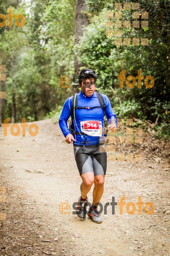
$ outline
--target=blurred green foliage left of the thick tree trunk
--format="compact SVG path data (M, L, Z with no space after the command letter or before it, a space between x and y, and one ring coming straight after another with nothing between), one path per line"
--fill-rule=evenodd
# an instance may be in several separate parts
M72 94L70 89L59 87L58 79L74 75L75 1L26 1L17 8L14 1L10 3L12 13L22 13L26 23L18 28L12 19L10 29L5 26L2 33L0 28L0 64L6 65L8 71L4 119L11 118L14 91L16 122L21 122L22 117L40 120ZM6 13L7 7L1 5L2 12Z

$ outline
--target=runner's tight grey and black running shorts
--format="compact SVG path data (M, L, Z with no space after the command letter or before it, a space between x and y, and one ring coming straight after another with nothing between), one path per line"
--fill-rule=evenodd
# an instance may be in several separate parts
M78 171L81 174L93 172L96 175L106 175L107 153L106 144L74 145L74 156Z

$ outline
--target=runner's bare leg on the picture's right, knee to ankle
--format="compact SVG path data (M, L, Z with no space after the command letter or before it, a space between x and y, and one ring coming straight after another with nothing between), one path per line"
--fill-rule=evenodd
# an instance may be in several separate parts
M105 175L94 176L93 205L98 206L104 191Z

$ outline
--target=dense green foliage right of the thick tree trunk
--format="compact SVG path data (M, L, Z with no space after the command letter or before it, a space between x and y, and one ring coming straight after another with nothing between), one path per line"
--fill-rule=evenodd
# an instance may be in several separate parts
M100 1L98 7L95 7L96 1L90 1L89 6L94 7L100 13L94 14L84 31L79 45L77 45L79 61L82 67L88 67L96 70L97 75L102 78L111 76L111 70L115 70L115 75L119 75L121 70L126 70L126 77L129 75L137 77L138 70L142 70L144 78L151 75L155 79L155 84L151 89L144 85L138 89L137 84L133 89L126 87L119 88L119 80L115 79L115 88L110 89L111 79L108 80L107 88L97 88L98 91L107 94L111 100L113 110L118 118L130 118L132 116L141 120L149 119L153 123L159 116L159 123L169 122L165 110L168 109L170 87L169 87L169 36L167 11L169 3L166 1L140 1L144 6L142 11L149 11L149 28L143 30L134 28L122 28L123 37L143 37L149 38L148 46L115 46L113 37L106 37L105 15L107 10L113 10L113 5L107 6L105 2L103 10ZM104 2L104 1L103 1ZM116 1L118 2L118 1ZM122 3L127 2L123 1ZM155 6L156 5L156 6ZM109 7L109 8L108 8ZM157 13L155 12L157 10ZM159 20L159 15L161 19ZM122 20L130 20L130 11L122 12ZM165 16L165 20L162 17ZM154 22L153 22L153 20ZM160 24L161 23L161 24ZM155 25L156 24L156 25ZM159 30L159 32L158 32ZM158 35L156 36L156 33ZM162 126L164 132L166 125Z

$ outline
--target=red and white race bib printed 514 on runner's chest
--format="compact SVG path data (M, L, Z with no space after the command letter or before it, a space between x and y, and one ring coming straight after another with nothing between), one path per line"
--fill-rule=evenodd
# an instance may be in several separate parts
M102 136L101 121L82 121L80 122L81 132L89 136Z

